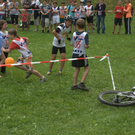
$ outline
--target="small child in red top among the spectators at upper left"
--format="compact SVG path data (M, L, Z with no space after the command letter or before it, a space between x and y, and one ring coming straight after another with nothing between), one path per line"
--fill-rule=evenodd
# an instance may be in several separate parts
M24 28L26 28L26 30L27 30L28 14L25 9L23 9L21 16L22 16L22 31L24 30Z

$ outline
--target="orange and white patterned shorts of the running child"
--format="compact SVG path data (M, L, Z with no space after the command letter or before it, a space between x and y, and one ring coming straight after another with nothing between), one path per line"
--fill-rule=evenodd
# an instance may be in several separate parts
M29 57L26 57L26 58L24 58L24 57L20 57L17 61L16 61L16 63L29 63L29 62L32 62L32 55L30 55ZM32 70L33 69L33 65L32 64L29 64L29 65L25 65L26 66L26 68L28 69L28 70Z

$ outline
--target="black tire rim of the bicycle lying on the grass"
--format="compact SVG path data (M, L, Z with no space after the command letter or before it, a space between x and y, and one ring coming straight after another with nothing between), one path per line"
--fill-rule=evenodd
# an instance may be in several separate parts
M116 107L126 107L126 106L132 106L132 105L135 105L135 100L132 99L132 101L125 101L125 103L116 103L114 102L114 100L111 101L107 101L106 99L103 98L104 95L113 95L112 97L115 97L114 95L119 93L119 92L123 92L123 91L116 91L116 90L109 90L109 91L104 91L104 92L101 92L99 95L98 95L98 100L106 105L110 105L110 106L116 106ZM111 98L112 98L111 97ZM110 99L111 100L111 99Z

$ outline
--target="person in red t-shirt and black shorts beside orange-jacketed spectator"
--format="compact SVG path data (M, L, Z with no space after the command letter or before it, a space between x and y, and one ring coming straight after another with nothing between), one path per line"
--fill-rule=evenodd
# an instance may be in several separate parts
M122 24L122 16L123 16L123 7L121 6L122 1L118 1L118 6L115 7L115 19L114 19L114 26L113 26L113 32L114 34L115 27L117 24L119 24L118 34L120 34L121 24Z

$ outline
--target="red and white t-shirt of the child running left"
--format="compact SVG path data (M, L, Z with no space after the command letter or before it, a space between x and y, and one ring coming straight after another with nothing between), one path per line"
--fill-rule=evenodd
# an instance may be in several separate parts
M22 38L16 38L14 39L10 46L9 49L14 50L17 49L24 58L29 57L31 54L31 52L29 51L29 49L27 48L27 45L25 43L26 38L22 37Z

